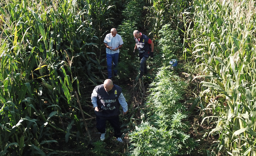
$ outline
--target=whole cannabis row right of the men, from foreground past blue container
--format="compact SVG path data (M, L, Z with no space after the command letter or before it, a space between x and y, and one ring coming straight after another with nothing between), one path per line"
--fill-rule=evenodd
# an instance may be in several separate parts
M160 31L163 38L159 40L163 50L161 66L154 81L149 85L149 96L145 106L147 119L136 127L130 136L130 155L184 155L191 154L196 143L186 134L189 127L185 122L187 112L180 101L183 99L187 84L170 69L169 60L180 50L177 31L168 25Z

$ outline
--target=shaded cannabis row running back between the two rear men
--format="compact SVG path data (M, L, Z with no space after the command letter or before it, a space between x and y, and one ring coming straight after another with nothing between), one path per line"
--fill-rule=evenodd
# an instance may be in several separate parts
M118 34L121 35L125 44L120 50L120 59L117 66L120 79L127 79L131 73L130 71L138 71L139 60L136 57L132 57L135 47L133 31L142 27L144 19L141 17L141 12L143 11L141 6L144 4L143 1L130 0L127 1L122 11L123 21L118 26Z

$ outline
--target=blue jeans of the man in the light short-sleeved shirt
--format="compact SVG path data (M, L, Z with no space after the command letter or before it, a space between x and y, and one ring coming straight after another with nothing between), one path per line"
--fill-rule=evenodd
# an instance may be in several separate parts
M114 64L114 75L117 74L117 63L118 63L118 55L119 53L115 54L107 54L107 77L110 79L112 78L112 60Z

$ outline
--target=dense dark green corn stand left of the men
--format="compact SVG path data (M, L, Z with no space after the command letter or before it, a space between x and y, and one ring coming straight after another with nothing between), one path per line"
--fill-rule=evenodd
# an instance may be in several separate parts
M86 19L82 6L76 0L0 2L0 155L45 155L56 133L65 142L83 133L73 95L78 76L99 80L97 35L105 30ZM100 20L110 8L97 8L106 11Z

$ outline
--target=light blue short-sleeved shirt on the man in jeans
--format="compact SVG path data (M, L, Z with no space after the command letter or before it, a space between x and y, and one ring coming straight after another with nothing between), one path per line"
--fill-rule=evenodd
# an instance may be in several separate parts
M105 39L104 39L104 43L106 43L108 46L112 47L112 49L117 48L119 45L123 44L123 40L122 37L118 34L116 34L115 37L112 36L111 33L107 34ZM109 48L106 47L106 53L107 54L115 54L115 53L119 53L119 49L116 51L112 51Z

